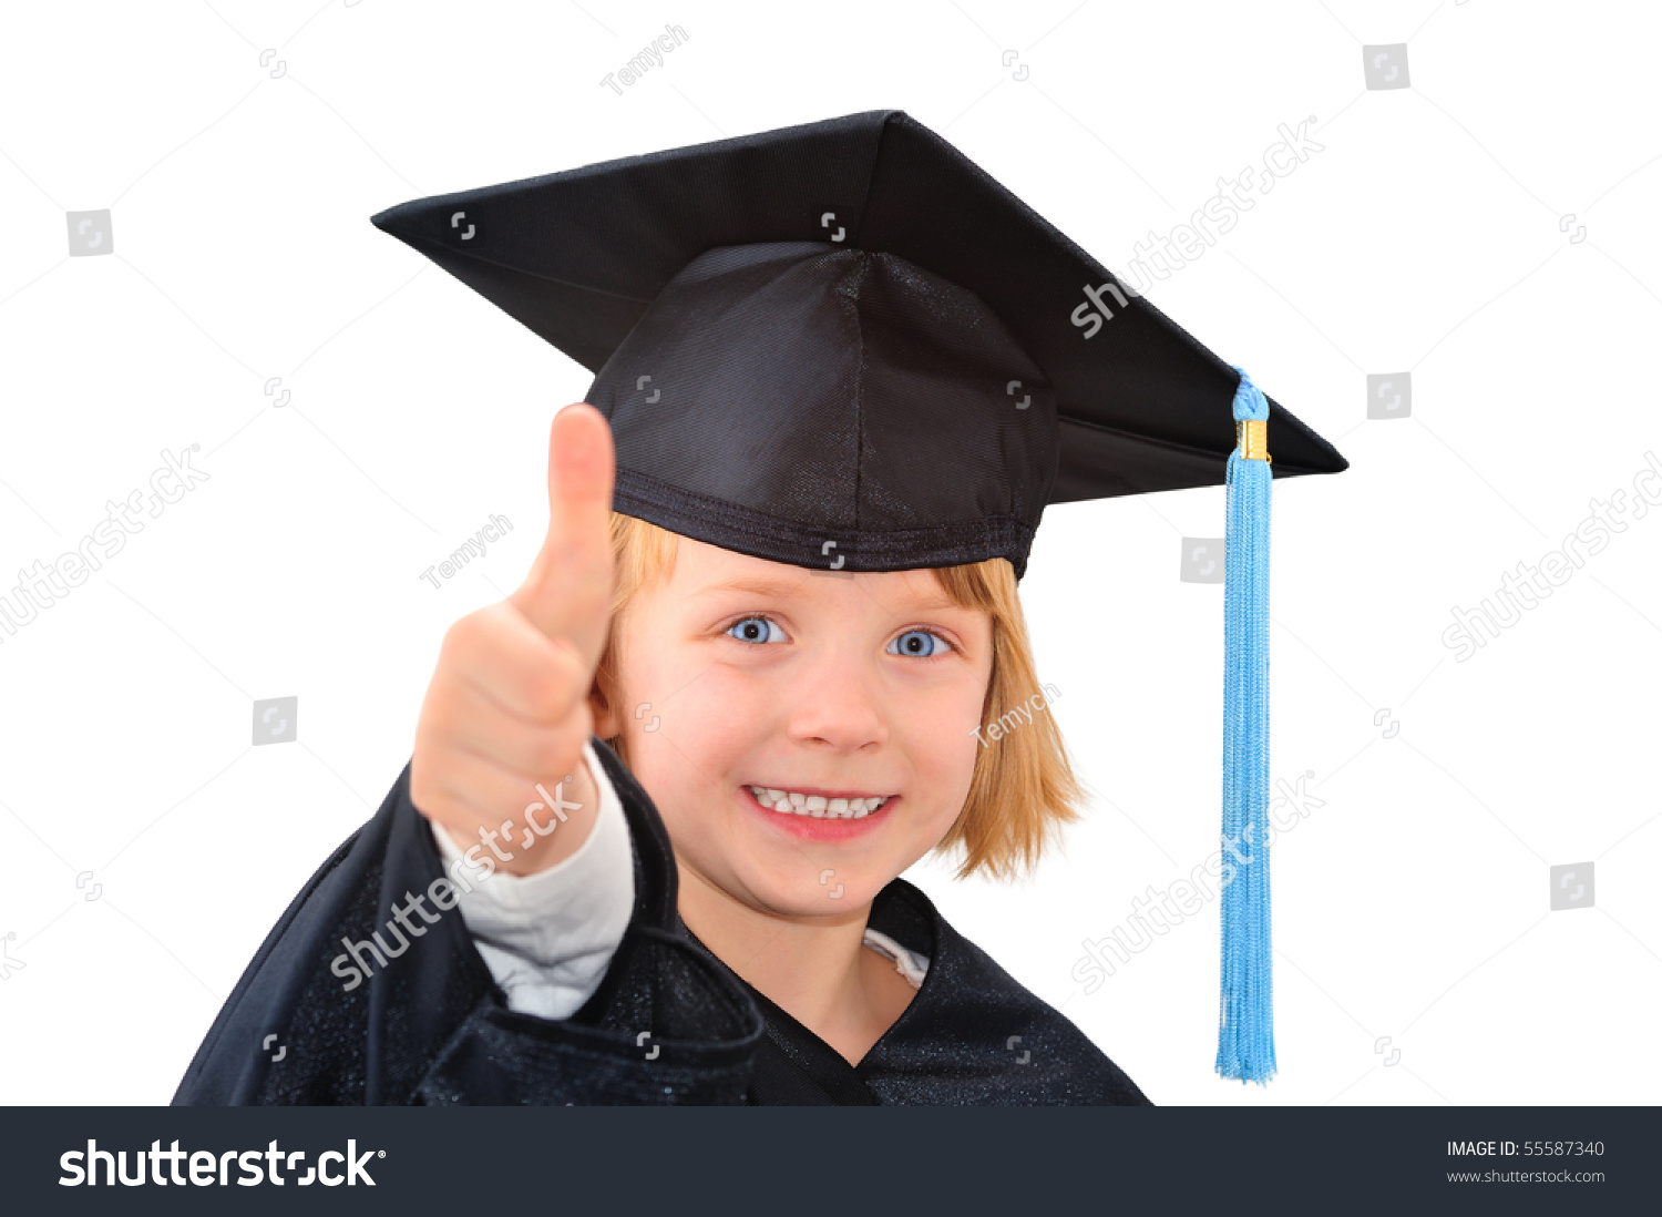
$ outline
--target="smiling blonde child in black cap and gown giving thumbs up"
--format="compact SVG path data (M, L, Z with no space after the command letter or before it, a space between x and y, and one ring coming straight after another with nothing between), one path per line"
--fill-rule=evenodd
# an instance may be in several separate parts
M175 1102L1147 1102L897 876L1075 818L1012 713L1034 529L1222 480L1240 377L896 111L376 223L592 406L529 579L447 633L411 766ZM1087 326L1080 283L1125 308ZM1278 474L1345 467L1258 401Z

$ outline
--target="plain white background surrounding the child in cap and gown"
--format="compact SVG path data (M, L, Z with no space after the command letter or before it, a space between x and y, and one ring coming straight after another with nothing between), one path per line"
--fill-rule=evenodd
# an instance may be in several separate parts
M1092 813L1034 881L914 878L1157 1102L1654 1101L1662 512L1468 662L1441 642L1662 451L1654 10L111 0L0 22L0 592L148 492L163 449L199 444L211 475L0 635L5 1102L171 1097L406 763L444 628L535 552L547 422L588 372L367 218L871 108L1117 271L1315 115L1323 151L1150 299L1353 462L1276 485L1271 768L1311 771L1323 806L1275 855L1268 1087L1212 1072L1215 904L1097 993L1072 978L1084 939L1217 848L1222 587L1178 560L1222 535L1222 489L1045 515L1022 592ZM598 83L665 23L686 43L660 68ZM1403 42L1411 88L1368 91L1361 47ZM63 213L101 208L115 254L68 258ZM1411 417L1366 421L1366 374L1403 371ZM419 577L490 514L517 529L489 557ZM299 742L251 746L251 702L284 695ZM1547 868L1586 861L1596 906L1551 913Z

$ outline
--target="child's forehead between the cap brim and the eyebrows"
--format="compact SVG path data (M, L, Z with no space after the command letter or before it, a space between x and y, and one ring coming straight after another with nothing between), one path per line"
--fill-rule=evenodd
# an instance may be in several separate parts
M778 600L849 597L886 608L957 607L929 569L833 574L736 554L691 537L678 539L666 590L700 600L750 594Z

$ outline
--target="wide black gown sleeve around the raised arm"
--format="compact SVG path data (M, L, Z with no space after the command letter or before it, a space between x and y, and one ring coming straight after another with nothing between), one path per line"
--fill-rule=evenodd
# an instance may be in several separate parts
M444 875L406 766L266 936L173 1102L741 1102L761 1019L731 973L675 931L675 863L658 813L605 743L595 753L628 818L637 894L583 1009L560 1021L507 1009L454 908L344 991L331 971L342 938L387 938L392 903ZM268 1034L278 1036L269 1047Z

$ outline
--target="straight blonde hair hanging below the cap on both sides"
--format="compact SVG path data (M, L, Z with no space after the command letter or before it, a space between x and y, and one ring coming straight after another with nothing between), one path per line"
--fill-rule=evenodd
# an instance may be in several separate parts
M617 707L618 620L637 594L668 579L675 569L678 537L656 524L612 512L612 559L617 585L612 592L612 632L600 657L597 682L607 702ZM1020 703L1032 707L1045 697L1027 643L1027 623L1015 594L1015 570L1006 559L987 559L959 567L932 567L936 580L961 608L976 608L992 618L992 675L981 708L982 728L1004 720L1009 735L992 737L996 746L976 751L969 795L952 828L936 850L961 848L957 878L976 871L1001 879L1015 878L1039 861L1047 841L1062 825L1079 818L1084 791L1062 743L1055 718L1015 715ZM1045 698L1049 700L1049 698ZM1020 730L1010 730L1020 723ZM997 728L996 728L997 730ZM628 763L622 735L607 740Z

